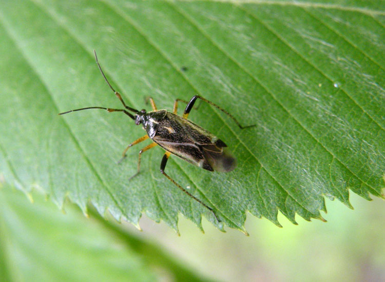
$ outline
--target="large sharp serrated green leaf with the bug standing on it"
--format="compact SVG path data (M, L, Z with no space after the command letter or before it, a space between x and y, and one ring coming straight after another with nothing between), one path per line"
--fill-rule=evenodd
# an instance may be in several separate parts
M385 12L368 1L4 1L0 3L0 171L24 191L41 187L59 206L68 196L138 226L142 212L177 230L178 213L201 214L245 232L245 212L279 225L280 210L310 220L324 196L347 206L349 189L381 196L385 176ZM159 173L162 150L143 154L144 135L119 113L92 50L126 103L152 96L171 110L199 94L189 118L238 158L210 173L177 157L167 172L214 215ZM181 111L181 110L180 110ZM127 124L125 122L127 121ZM147 145L144 144L143 147Z

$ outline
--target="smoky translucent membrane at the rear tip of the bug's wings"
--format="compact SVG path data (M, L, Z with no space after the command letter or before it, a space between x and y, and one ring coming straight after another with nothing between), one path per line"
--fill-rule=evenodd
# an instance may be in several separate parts
M202 152L210 166L219 172L229 172L237 166L236 158L225 147L216 145L202 146Z

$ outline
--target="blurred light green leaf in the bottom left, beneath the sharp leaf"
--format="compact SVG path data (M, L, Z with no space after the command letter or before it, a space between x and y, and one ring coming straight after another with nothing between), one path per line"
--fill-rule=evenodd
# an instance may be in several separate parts
M0 189L3 281L155 280L116 234L72 207L64 214L41 195L35 199L32 205L21 192Z

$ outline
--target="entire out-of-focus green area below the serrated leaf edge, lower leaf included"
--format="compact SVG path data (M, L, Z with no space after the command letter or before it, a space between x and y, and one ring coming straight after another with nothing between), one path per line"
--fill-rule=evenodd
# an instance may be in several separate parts
M245 236L205 234L180 217L178 236L143 216L139 231L67 203L66 213L33 193L0 189L2 281L383 281L385 207L352 195L355 210L328 201L323 223L284 216L278 228L248 216ZM21 238L23 237L23 238Z

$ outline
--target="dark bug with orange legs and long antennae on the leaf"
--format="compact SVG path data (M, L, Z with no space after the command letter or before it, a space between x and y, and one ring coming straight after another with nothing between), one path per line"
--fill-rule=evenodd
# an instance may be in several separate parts
M127 148L123 151L123 156L118 163L120 163L126 157L127 150L133 145L139 144L148 138L150 138L153 143L147 145L142 150L140 150L138 159L138 170L129 179L139 174L142 153L159 145L166 151L163 155L160 166L161 173L166 176L167 179L170 180L170 182L172 182L179 189L181 189L184 193L196 200L198 203L203 205L211 212L213 212L218 222L220 222L221 220L218 218L213 208L209 207L208 205L203 203L202 200L192 195L190 192L180 186L164 171L167 164L167 160L169 156L173 154L193 165L196 165L208 171L229 172L234 170L236 167L236 158L232 155L232 153L227 150L227 145L221 139L187 119L188 114L194 107L194 104L197 99L201 99L204 102L216 107L217 109L227 114L241 129L252 127L255 125L241 126L238 120L233 115L231 115L218 105L214 104L213 102L210 102L209 100L198 95L193 96L188 102L186 100L176 99L174 103L174 111L172 113L168 112L167 110L158 110L152 98L148 98L150 100L151 107L153 110L151 112L146 112L146 110L144 109L138 111L134 108L131 108L124 103L124 100L120 93L112 88L99 64L98 56L95 51L94 54L96 63L104 77L104 80L114 92L114 94L119 98L120 102L122 102L125 109L87 107L63 112L60 113L60 115L89 109L103 109L107 110L108 112L123 112L128 115L131 119L133 119L136 125L142 124L142 127L147 132L147 134L129 144ZM187 104L183 112L183 116L177 115L178 102L183 102Z

